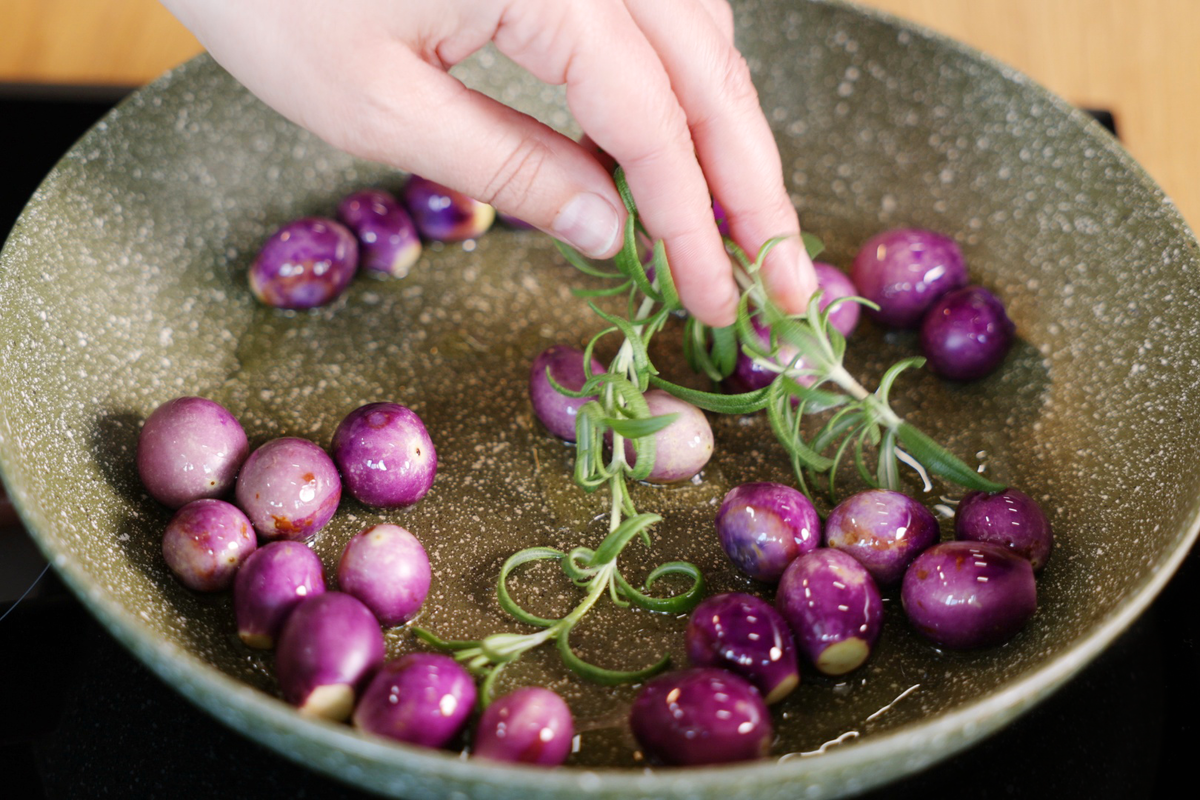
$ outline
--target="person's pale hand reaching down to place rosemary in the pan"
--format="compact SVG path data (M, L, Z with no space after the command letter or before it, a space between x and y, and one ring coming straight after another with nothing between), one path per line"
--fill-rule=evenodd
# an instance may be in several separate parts
M738 289L710 193L772 297L816 288L779 150L733 46L726 0L163 0L277 112L355 156L457 188L594 258L620 247L619 163L684 306L728 325ZM565 85L582 143L463 86L487 42Z

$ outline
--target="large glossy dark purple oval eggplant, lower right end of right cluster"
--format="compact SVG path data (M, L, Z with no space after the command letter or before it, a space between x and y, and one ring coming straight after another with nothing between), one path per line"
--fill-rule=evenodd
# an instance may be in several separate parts
M991 542L929 548L905 573L900 600L912 626L948 650L1003 644L1038 607L1033 565Z

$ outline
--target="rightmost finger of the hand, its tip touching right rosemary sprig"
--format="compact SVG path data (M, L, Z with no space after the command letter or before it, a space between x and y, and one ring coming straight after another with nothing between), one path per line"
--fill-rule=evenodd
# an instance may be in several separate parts
M799 239L779 150L749 67L714 22L719 8L706 2L710 16L702 18L688 13L691 0L626 0L626 5L662 59L733 240L754 253L768 239L787 236L768 255L763 279L786 311L804 311L816 275Z

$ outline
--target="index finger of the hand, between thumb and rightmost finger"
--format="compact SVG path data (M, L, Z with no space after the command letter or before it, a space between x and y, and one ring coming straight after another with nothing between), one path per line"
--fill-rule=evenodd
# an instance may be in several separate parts
M544 6L570 8L556 38L563 47L546 47L536 35ZM732 269L713 224L688 116L659 54L619 1L527 2L518 11L526 13L506 18L497 46L542 80L566 84L580 126L624 168L643 223L664 240L684 306L701 321L732 323ZM688 13L708 19L696 7Z

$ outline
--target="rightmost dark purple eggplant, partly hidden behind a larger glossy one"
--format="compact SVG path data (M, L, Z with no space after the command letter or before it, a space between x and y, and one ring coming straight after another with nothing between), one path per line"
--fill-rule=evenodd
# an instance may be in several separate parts
M956 539L1002 545L1039 572L1050 558L1054 531L1042 506L1014 488L995 494L967 492L954 518Z

